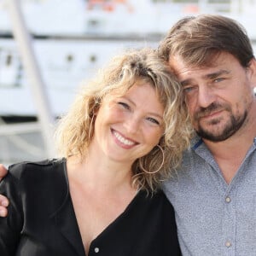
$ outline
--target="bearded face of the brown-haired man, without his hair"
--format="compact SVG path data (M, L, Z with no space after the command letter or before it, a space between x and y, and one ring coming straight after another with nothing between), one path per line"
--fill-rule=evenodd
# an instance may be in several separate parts
M220 142L247 123L254 98L255 65L241 67L229 53L221 53L212 62L212 67L189 67L177 55L169 60L183 85L195 131L209 141Z

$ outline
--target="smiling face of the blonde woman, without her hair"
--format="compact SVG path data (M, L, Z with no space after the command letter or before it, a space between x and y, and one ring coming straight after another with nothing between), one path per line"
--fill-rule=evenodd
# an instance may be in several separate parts
M99 156L132 164L159 143L163 114L152 85L135 84L124 96L103 99L90 146Z

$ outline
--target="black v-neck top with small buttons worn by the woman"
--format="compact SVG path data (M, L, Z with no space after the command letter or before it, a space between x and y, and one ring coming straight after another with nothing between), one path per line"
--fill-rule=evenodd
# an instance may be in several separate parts
M8 217L0 218L1 256L85 255L65 159L10 166L0 193L10 200ZM138 192L125 212L91 242L91 255L181 255L166 195Z

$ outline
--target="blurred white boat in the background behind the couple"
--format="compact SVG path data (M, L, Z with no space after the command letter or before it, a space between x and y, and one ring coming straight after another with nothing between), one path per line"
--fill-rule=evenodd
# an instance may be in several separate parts
M229 15L256 41L256 0L20 1L55 115L67 110L78 84L112 55L124 48L156 46L183 15ZM35 115L26 70L11 34L7 3L0 0L0 116Z

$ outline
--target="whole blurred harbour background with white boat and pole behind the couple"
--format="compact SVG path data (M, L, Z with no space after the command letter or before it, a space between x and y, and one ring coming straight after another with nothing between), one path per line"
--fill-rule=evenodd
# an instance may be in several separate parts
M0 163L54 157L56 119L81 82L202 13L240 21L255 53L256 0L0 0Z

